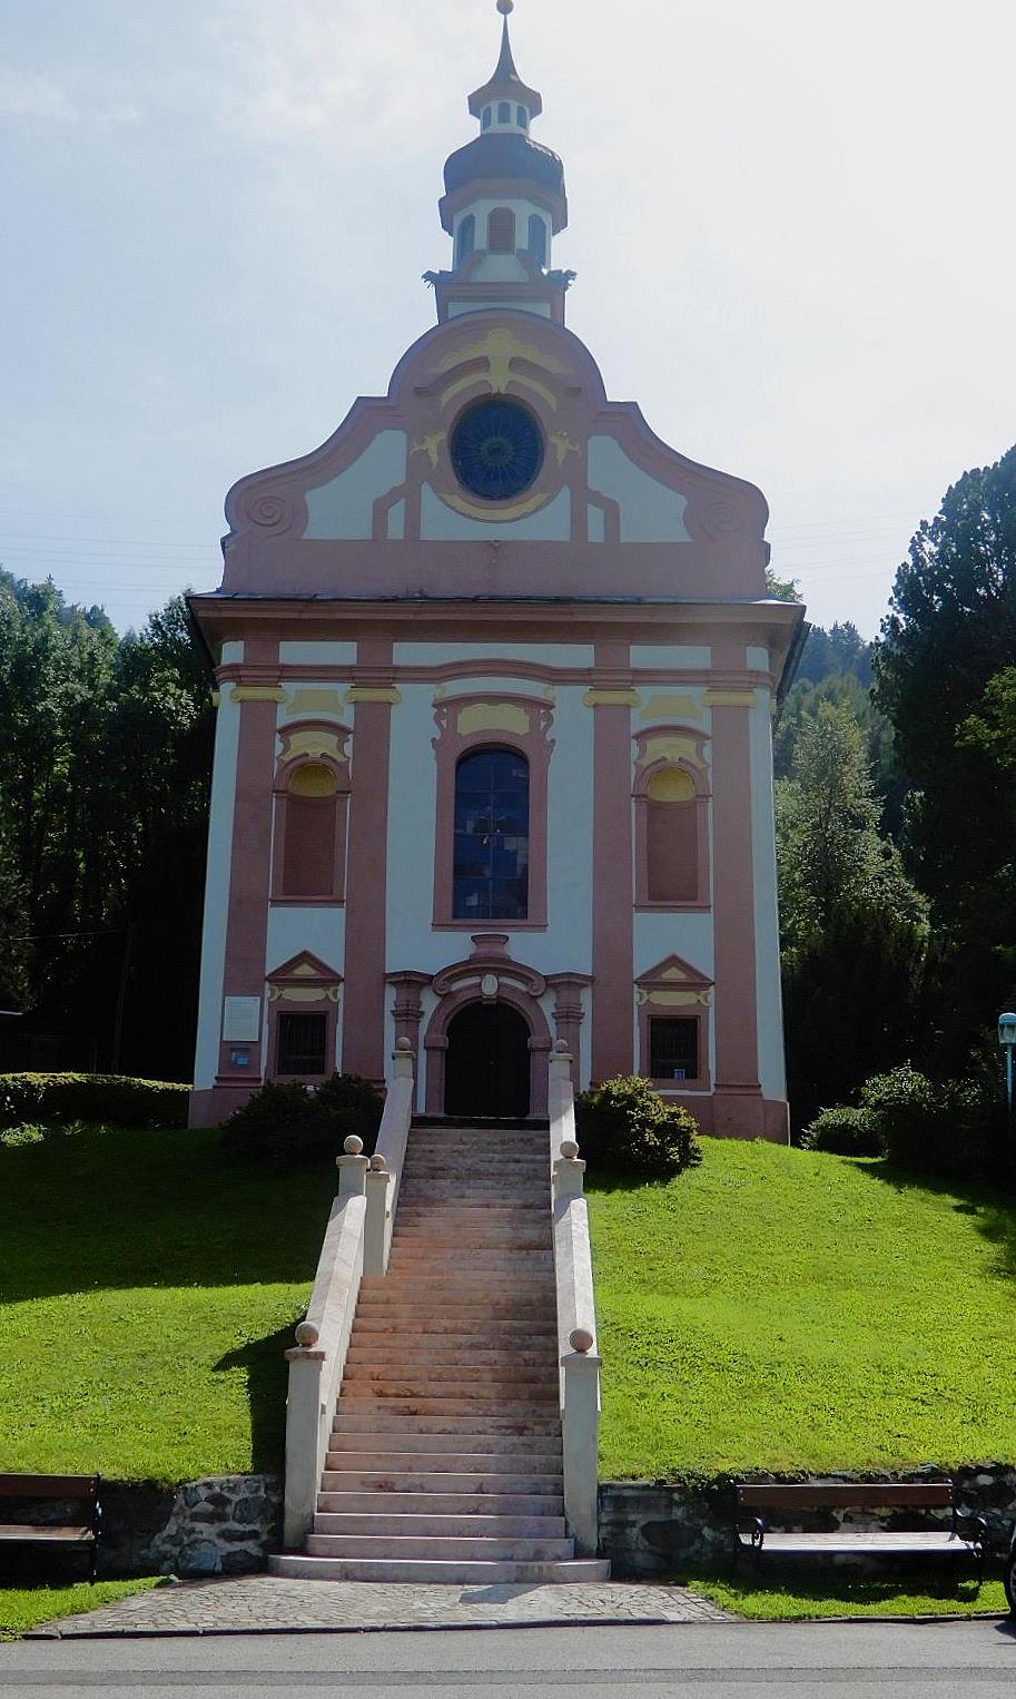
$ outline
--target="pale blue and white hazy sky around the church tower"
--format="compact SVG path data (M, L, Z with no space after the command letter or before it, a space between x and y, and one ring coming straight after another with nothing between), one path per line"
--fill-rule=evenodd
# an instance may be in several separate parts
M759 484L809 617L1016 440L1011 0L518 0L569 326ZM449 263L494 0L5 0L0 564L141 627L223 500L381 394Z

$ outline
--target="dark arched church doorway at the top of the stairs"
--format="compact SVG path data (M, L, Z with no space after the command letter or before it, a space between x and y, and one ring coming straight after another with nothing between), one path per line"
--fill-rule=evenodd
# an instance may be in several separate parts
M445 1115L528 1115L528 1026L510 1002L467 1002L449 1021Z

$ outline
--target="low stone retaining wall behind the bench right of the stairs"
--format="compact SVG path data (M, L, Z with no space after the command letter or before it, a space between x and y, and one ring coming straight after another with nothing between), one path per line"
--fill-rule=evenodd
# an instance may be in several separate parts
M921 1482L943 1480L951 1475L962 1516L982 1516L987 1522L989 1546L1002 1553L1009 1546L1016 1521L1016 1468L1009 1463L984 1463L960 1470L911 1470L906 1473L831 1475L836 1482ZM802 1480L802 1476L751 1475L746 1480ZM844 1512L821 1510L782 1527L836 1527ZM860 1519L860 1517L855 1517ZM892 1526L892 1514L865 1512L863 1521L873 1527ZM934 1526L936 1514L928 1514L924 1526ZM948 1522L948 1514L945 1516ZM907 1512L906 1522L897 1512L897 1526L921 1526ZM654 1482L601 1482L600 1483L600 1549L613 1563L615 1575L663 1577L675 1573L683 1563L727 1561L734 1526L734 1492L729 1482L703 1482L702 1485L659 1485Z

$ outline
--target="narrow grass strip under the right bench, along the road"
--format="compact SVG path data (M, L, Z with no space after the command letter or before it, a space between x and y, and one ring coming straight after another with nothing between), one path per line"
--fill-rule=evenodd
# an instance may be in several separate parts
M846 1580L797 1570L783 1580L731 1580L729 1572L681 1575L678 1580L722 1611L751 1623L804 1623L824 1616L1006 1616L1002 1583L945 1577L933 1592L917 1592L902 1580Z

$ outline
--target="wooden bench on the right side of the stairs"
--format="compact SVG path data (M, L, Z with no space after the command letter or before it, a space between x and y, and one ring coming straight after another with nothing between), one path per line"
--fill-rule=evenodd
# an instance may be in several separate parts
M960 1532L951 1482L802 1482L793 1485L737 1482L734 1561L741 1551L758 1560L797 1556L943 1556L972 1558L984 1580L984 1517L970 1517L970 1532ZM885 1527L836 1527L827 1532L770 1532L766 1512L810 1510L950 1510L950 1526L926 1531ZM742 1522L751 1516L751 1529Z

